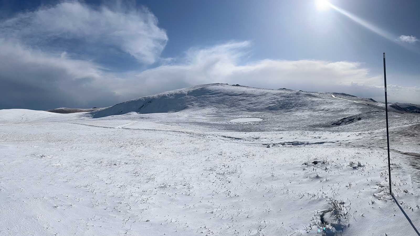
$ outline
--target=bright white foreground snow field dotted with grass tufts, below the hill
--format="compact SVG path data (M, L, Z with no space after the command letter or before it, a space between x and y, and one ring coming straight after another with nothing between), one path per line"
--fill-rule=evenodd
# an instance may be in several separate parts
M382 149L69 123L2 126L0 140L3 235L315 235L330 198L349 211L343 235L412 230L386 195ZM393 174L419 222L415 183Z

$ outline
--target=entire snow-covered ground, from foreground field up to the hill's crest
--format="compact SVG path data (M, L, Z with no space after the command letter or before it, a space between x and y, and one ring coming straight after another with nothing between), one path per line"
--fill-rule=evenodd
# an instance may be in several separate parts
M91 113L0 110L0 235L416 235L388 194L384 116L226 84ZM419 125L389 116L394 195L420 227Z

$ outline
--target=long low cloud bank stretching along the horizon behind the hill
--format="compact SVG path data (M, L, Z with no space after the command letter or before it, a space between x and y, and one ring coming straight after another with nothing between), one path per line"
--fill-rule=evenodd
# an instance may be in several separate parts
M86 60L71 59L66 52L51 54L0 39L0 108L101 107L216 82L346 92L383 100L382 75L370 75L360 63L266 59L241 64L248 53L249 42L230 42L190 49L184 57L149 70L113 73ZM419 90L388 85L388 98L419 102Z

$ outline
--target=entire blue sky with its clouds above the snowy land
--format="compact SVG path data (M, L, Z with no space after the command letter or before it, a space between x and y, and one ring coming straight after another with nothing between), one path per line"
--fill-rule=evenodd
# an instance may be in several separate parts
M103 107L205 83L420 103L420 3L0 1L2 108Z

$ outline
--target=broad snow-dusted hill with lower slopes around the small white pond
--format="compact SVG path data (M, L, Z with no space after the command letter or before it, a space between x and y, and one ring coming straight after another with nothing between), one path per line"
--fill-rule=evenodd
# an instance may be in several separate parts
M370 99L337 94L360 102ZM165 113L165 114L161 114ZM228 84L203 84L121 102L91 113L92 118L127 114L132 119L152 118L185 123L214 131L281 131L328 129L337 131L384 128L383 111L337 99L326 92L260 89ZM142 114L142 115L139 115ZM356 117L356 119L353 119ZM258 118L255 123L232 123L236 118ZM351 122L341 122L349 119ZM302 122L304 121L304 122ZM343 123L344 125L333 125ZM407 124L390 114L391 126Z

